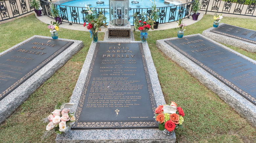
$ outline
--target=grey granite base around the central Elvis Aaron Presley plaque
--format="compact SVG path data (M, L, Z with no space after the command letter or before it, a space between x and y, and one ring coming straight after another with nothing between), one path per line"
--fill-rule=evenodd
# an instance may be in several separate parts
M109 41L100 41L109 42ZM130 41L139 42L139 41ZM147 68L149 71L150 81L155 96L157 105L165 104L161 86L158 80L158 74L154 66L149 47L146 43L142 44L144 55L146 59ZM82 90L85 84L90 63L93 59L96 43L91 43L90 49L86 56L84 65L77 80L75 89L73 91L70 103L75 103L71 108L71 112L75 112L78 106L79 99L82 94ZM70 129L66 134L57 135L56 143L71 143L71 142L83 142L83 143L129 143L129 142L155 142L155 143L174 143L176 142L175 133L172 135L164 135L158 128L147 129Z

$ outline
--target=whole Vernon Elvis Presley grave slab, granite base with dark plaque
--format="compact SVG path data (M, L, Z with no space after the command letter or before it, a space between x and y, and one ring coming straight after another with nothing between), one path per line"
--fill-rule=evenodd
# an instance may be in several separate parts
M197 38L198 42L195 41L195 39L193 39L193 38ZM172 42L175 40L177 42ZM167 41L169 43L167 43L165 41ZM191 41L193 41L193 42L191 42ZM222 100L224 100L227 104L229 104L232 108L234 108L234 110L236 110L240 115L242 115L245 119L247 119L252 125L256 126L256 105L253 103L255 101L255 98L254 98L255 92L252 92L253 97L251 97L251 101L249 101L245 97L241 96L239 91L237 92L234 90L234 88L233 89L231 88L231 86L235 86L235 85L232 85L233 83L227 84L228 80L226 79L225 74L229 74L229 75L231 75L231 74L227 73L225 71L229 71L229 70L234 71L236 69L235 67L237 66L237 64L234 64L236 62L233 62L233 58L226 58L226 57L229 57L229 55L225 55L224 52L220 51L220 50L229 51L229 52L235 54L237 57L244 59L244 60L248 61L249 63L252 63L253 65L255 65L255 63L256 63L254 60L252 60L234 50L231 50L231 49L229 49L229 48L227 48L227 47L225 47L225 46L223 46L223 45L221 45L221 44L219 44L201 34L188 35L188 36L184 36L181 39L170 38L170 39L164 39L164 40L157 40L157 47L166 56L168 56L173 61L178 63L181 67L183 67L191 75L196 77L206 87L208 87L213 92L215 92ZM214 48L212 48L212 47L214 47ZM219 47L219 48L216 49L216 47ZM197 56L193 56L196 53L197 53ZM221 55L223 55L224 57L222 57ZM204 62L207 59L209 59L210 61L208 61L208 63L205 64ZM201 60L203 60L203 62ZM221 62L221 63L218 63L218 62ZM214 64L214 63L216 63L216 64ZM218 64L223 64L223 63L224 63L224 65L223 65L224 67L218 66ZM215 69L218 68L219 70L216 72L216 71L214 71L215 69L211 69L212 67L209 68L208 67L209 65L215 67ZM222 68L224 68L224 69L222 69ZM225 70L227 68L229 68L229 70ZM238 67L238 69L240 69L240 68L241 67ZM247 68L245 68L245 69L247 69ZM241 73L242 76L244 76L243 74L250 72L245 69L238 70L238 71L243 70L241 72L244 72L244 73L241 73L241 72L237 72L237 73L239 73L239 74ZM250 69L248 69L248 70L250 70ZM218 74L219 71L223 72L222 74L224 76ZM212 73L217 75L218 78L215 75L213 75ZM231 72L231 73L233 73L233 72ZM237 74L237 73L235 71L235 74ZM252 73L254 73L254 71L252 71ZM233 75L236 76L235 74L233 74ZM250 73L248 73L248 74L250 74ZM239 80L241 82L243 81L243 78L241 77L241 75L236 78L237 79L239 78ZM251 77L251 78L254 78L254 77ZM248 81L250 80L250 79L246 79L246 77L244 79L248 80ZM234 82L235 80L236 79L233 78L232 82ZM255 85L255 84L253 84L254 81L249 81L249 82L252 85ZM238 84L238 83L236 83L236 84Z

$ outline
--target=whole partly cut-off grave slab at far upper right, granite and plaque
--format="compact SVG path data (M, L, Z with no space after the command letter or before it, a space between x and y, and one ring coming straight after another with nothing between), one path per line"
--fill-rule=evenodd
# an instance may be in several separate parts
M249 52L256 52L256 31L234 25L220 23L218 27L211 27L203 31L202 35Z

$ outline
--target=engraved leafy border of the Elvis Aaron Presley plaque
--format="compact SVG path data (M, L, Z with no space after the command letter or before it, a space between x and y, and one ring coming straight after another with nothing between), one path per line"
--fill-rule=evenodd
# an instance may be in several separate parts
M104 42L104 43L113 43L113 42ZM122 42L126 43L126 42ZM104 129L104 128L157 128L158 127L158 122L156 121L99 121L99 122L79 122L79 118L81 115L82 107L84 104L86 92L89 86L89 81L92 75L93 71L93 66L96 60L96 55L98 53L98 48L99 48L100 42L96 44L94 55L91 61L91 65L89 68L89 71L87 73L87 77L85 80L85 84L82 90L82 94L80 97L80 100L77 105L77 109L75 112L75 123L72 125L72 129ZM154 110L156 109L156 101L149 77L149 72L147 69L147 64L146 64L146 59L144 56L144 51L143 51L143 46L141 43L139 43L139 48L140 48L140 53L142 56L142 64L144 66L144 71L146 75L146 82L148 86L148 91L149 91L149 96L150 96L150 101L151 101L151 107L152 107L152 112L154 113Z

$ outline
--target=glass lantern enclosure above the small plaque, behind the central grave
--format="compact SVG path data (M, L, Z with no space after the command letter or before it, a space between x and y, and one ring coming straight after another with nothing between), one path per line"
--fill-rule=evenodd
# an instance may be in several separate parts
M109 0L110 24L125 26L129 22L129 0Z

